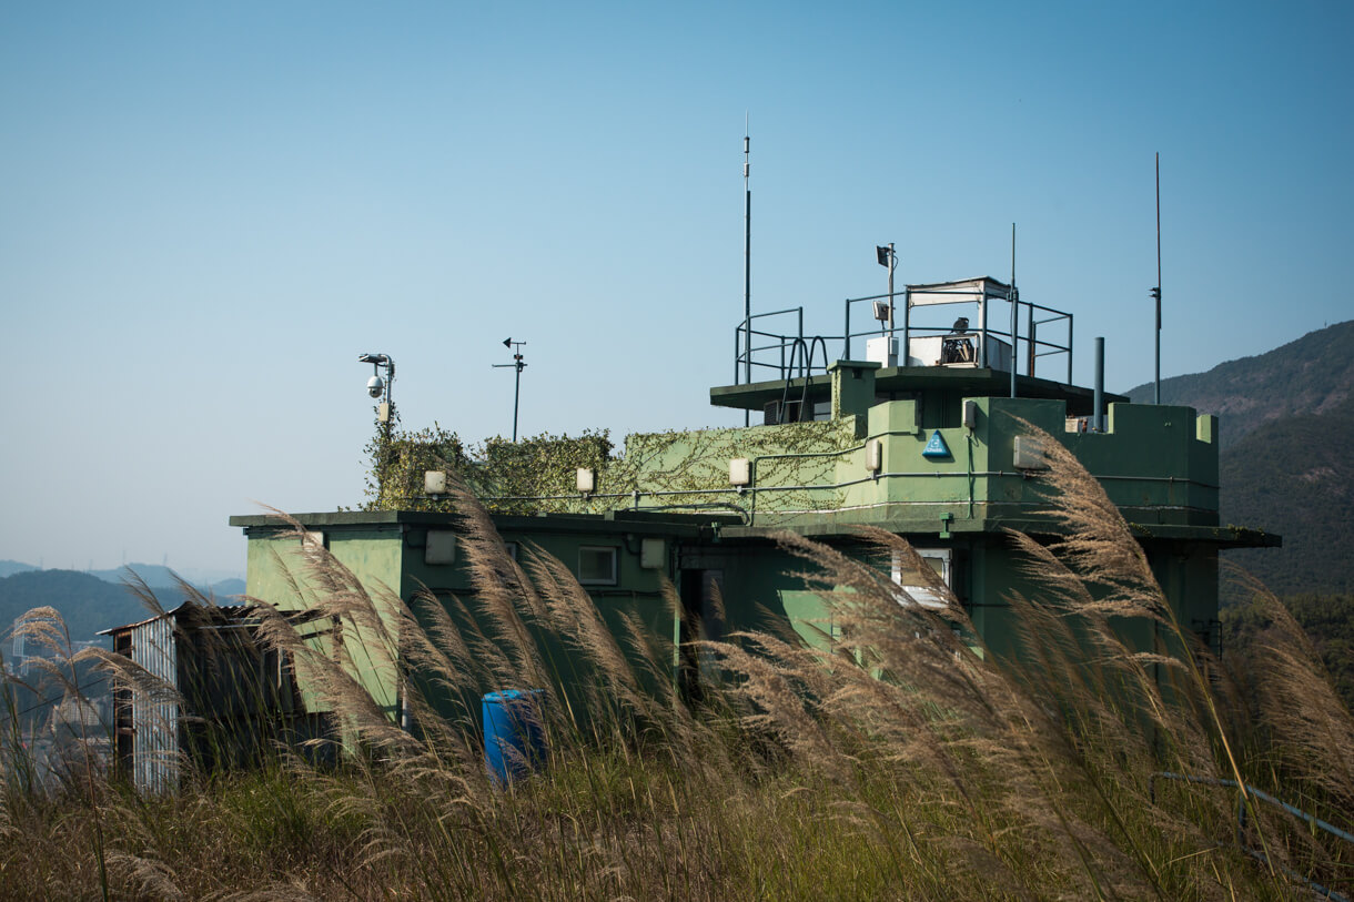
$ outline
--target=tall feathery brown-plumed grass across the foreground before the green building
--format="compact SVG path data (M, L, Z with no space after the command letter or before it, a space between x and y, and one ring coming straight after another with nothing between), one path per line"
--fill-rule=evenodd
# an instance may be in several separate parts
M43 791L7 761L0 894L1303 898L1290 874L1350 893L1349 853L1301 825L1243 798L1257 860L1235 841L1236 795L1152 781L1233 779L1350 828L1354 721L1300 630L1275 614L1282 628L1250 662L1263 692L1247 696L1174 620L1098 484L1053 463L1066 538L1010 536L1039 585L1010 599L1021 654L984 649L938 580L929 588L951 604L930 609L879 569L784 535L834 628L821 647L773 619L704 642L719 679L699 702L672 680L670 643L635 620L615 632L548 555L519 563L470 497L466 600L405 604L309 546L292 601L343 641L302 641L268 605L257 639L333 711L333 730L275 737L248 768L190 757L172 795L92 767ZM864 536L914 555L887 532ZM672 592L665 603L680 611ZM1125 623L1148 624L1160 647L1125 645ZM401 716L355 664L403 687ZM544 689L548 763L497 787L477 700L509 685Z

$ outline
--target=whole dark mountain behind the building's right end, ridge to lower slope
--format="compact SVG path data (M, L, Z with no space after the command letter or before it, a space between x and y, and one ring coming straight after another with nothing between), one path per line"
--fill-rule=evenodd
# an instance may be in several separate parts
M1221 521L1284 536L1225 559L1280 595L1354 593L1354 321L1163 379L1162 402L1221 418Z

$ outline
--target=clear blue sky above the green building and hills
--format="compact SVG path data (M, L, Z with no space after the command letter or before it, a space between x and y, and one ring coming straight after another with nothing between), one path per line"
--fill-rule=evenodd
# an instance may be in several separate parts
M1181 12L1179 7L1189 7ZM1354 5L9 3L0 558L241 573L253 500L362 500L366 351L405 425L741 421L753 303L1010 271L1076 379L1350 318Z

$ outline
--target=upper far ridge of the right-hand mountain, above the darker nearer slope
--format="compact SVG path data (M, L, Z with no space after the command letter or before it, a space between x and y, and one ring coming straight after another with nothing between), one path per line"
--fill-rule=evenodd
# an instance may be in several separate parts
M1151 404L1152 383L1128 391ZM1320 414L1354 397L1354 320L1309 332L1254 358L1208 372L1162 379L1162 404L1183 404L1221 417L1219 442L1229 448L1274 420Z

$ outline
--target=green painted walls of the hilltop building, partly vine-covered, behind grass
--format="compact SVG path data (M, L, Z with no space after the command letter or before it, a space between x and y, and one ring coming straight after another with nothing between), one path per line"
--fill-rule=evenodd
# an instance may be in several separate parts
M804 562L754 534L757 528L793 528L821 535L839 547L856 547L842 536L856 524L877 524L903 534L918 547L955 551L955 582L975 628L998 654L1013 653L1017 624L1007 604L1011 590L1036 589L1020 572L1001 527L1029 530L1040 525L1047 507L1044 481L1037 470L1016 467L1017 437L1026 425L1063 443L1101 478L1124 516L1137 524L1217 524L1217 421L1189 408L1114 404L1106 433L1068 432L1067 406L1059 400L979 397L957 389L918 391L907 400L875 402L875 371L869 364L844 363L833 368L833 409L827 421L776 427L707 429L632 435L624 454L597 473L589 496L565 494L540 501L556 517L520 519L505 528L504 539L559 558L578 573L581 546L616 551L613 585L588 586L609 630L628 647L626 619L646 635L672 642L692 638L682 632L682 612L662 595L666 580L678 599L688 597L692 580L703 572L719 573L724 612L723 632L788 624L807 641L818 630L831 632L821 599L796 576ZM792 398L793 400L793 398ZM964 424L965 404L972 409ZM948 447L942 456L923 450L934 436ZM868 467L877 443L880 467ZM751 490L730 485L730 459L751 463ZM567 515L605 515L612 511L658 509L738 512L745 527L726 527L728 540L678 540L668 536L663 566L640 567L642 527L619 525L613 519L570 519ZM563 516L561 516L563 515ZM359 517L360 519L360 517ZM749 528L750 527L750 528ZM429 565L424 550L429 528L418 523L349 523L329 528L328 546L374 593L386 586L410 601L427 586L448 608L463 600L479 626L464 561ZM658 530L661 532L661 530ZM1158 578L1182 626L1201 635L1216 634L1217 561L1204 543L1144 540ZM286 562L306 585L295 538L252 535L248 592L283 608L303 605L283 574ZM875 562L887 566L887 562ZM684 588L684 582L686 584ZM688 595L684 595L688 593ZM676 605L680 608L680 603ZM712 624L716 620L705 619ZM470 623L462 623L468 628ZM1137 628L1137 627L1132 627ZM716 637L718 638L718 637ZM363 637L356 637L363 639ZM317 639L321 642L321 639ZM546 642L551 660L573 668L575 654ZM1135 642L1155 647L1152 635ZM360 643L360 642L359 642ZM666 661L663 662L666 668ZM653 679L676 677L680 661ZM380 656L355 656L355 668L380 704L395 715L397 687ZM586 680L586 668L578 680ZM512 674L505 679L510 681ZM528 688L489 687L489 688ZM577 699L586 696L580 688ZM459 708L474 710L474 699ZM467 715L468 716L468 715Z

